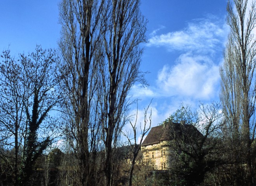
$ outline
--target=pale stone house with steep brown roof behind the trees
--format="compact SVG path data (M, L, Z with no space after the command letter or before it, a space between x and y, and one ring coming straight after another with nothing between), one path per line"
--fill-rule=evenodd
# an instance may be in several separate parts
M202 136L194 126L185 124L185 122L165 122L162 125L152 127L142 143L144 164L152 165L154 170L170 168L173 156L170 145L175 136L182 135L189 138Z

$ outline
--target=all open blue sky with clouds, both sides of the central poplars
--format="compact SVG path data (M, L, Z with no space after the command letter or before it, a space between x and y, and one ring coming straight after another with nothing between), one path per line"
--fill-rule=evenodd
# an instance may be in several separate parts
M0 50L32 52L36 44L57 48L59 0L0 1ZM141 70L149 87L131 90L139 101L139 121L152 98L152 126L181 103L219 100L219 67L228 35L227 0L141 0L148 19ZM131 108L131 113L134 109Z

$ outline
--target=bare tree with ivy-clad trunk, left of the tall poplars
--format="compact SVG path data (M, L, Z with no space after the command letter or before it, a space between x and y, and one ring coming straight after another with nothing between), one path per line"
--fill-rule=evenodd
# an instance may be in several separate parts
M25 73L24 89L28 90L28 97L23 103L26 126L19 185L29 184L36 159L52 141L57 119L50 117L49 113L62 97L58 92L61 76L57 70L56 56L54 50L43 50L40 46L28 56L21 55Z

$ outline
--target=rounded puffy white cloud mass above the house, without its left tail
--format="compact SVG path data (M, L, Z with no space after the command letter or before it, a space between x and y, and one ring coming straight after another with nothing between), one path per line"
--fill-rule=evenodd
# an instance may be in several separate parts
M157 84L166 96L186 96L209 99L216 94L220 81L219 66L206 56L186 53L176 65L164 65L159 71Z

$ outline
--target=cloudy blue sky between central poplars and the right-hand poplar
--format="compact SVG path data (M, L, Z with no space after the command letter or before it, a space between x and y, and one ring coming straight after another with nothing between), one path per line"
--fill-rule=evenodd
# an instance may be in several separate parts
M142 1L149 21L142 71L150 72L150 86L135 86L133 94L144 107L154 98L152 126L181 103L197 108L199 101L219 100L219 67L229 32L226 7L226 0ZM141 107L139 121L142 113Z

